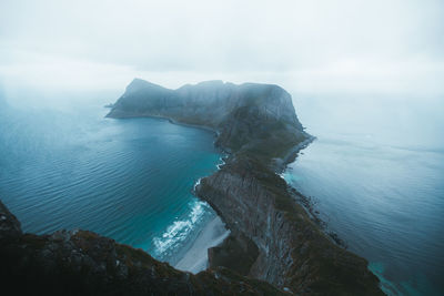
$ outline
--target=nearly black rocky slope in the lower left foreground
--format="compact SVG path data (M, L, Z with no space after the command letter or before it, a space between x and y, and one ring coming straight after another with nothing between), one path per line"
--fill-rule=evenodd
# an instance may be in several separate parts
M8 295L284 295L226 268L179 272L91 232L23 234L1 202L0 263Z

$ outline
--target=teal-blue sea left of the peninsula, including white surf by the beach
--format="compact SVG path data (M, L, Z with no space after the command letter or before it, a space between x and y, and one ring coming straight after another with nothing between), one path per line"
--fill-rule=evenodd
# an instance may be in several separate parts
M105 113L3 109L0 198L26 232L89 229L171 262L214 216L191 194L216 170L214 135Z

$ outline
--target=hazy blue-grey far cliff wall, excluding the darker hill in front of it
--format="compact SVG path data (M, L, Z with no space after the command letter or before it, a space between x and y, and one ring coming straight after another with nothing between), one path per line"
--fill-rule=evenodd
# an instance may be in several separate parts
M226 114L235 109L253 105L268 118L302 127L291 96L282 88L258 83L235 85L222 81L205 81L169 90L134 79L117 101L109 116L171 115L218 126Z

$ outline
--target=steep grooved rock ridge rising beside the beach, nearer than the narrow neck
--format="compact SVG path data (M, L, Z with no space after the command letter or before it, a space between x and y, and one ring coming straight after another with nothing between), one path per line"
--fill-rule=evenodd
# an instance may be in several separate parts
M259 251L246 272L236 265L236 256L252 253L246 248L232 252L233 258L213 254L212 267L225 266L297 294L381 294L366 261L333 244L294 202L286 183L254 160L228 163L201 180L196 193L218 210L234 236L246 236Z

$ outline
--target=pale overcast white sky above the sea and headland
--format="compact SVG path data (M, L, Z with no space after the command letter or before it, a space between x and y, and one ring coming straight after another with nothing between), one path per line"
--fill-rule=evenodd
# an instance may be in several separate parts
M444 1L0 1L4 89L122 90L134 76L443 94Z

